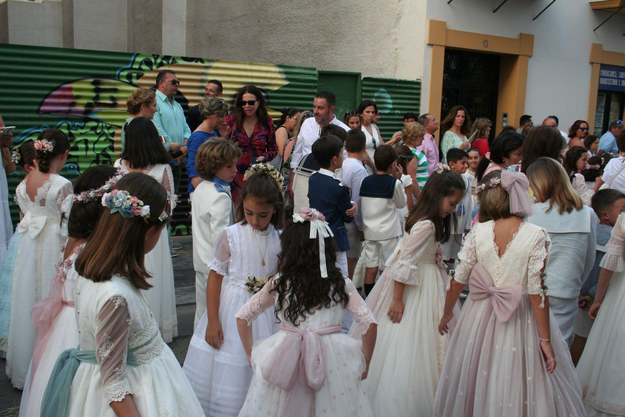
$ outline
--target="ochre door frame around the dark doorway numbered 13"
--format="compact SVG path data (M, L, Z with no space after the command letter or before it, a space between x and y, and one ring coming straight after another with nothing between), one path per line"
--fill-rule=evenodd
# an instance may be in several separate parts
M501 67L497 95L497 120L494 121L493 129L500 130L502 113L508 113L508 125L516 126L525 110L527 67L529 57L534 54L534 35L520 33L519 38L505 38L490 34L456 31L447 29L447 23L444 21L429 19L427 21L427 44L432 46L427 96L427 110L431 115L438 120L446 116L441 115L445 48L496 53L501 54Z

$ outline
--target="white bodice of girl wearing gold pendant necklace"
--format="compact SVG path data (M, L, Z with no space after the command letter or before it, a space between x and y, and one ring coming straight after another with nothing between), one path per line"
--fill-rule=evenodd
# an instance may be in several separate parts
M272 224L264 232L249 224L233 224L217 237L209 267L217 274L228 275L232 283L244 285L246 277L269 278L276 274L280 248L280 234Z

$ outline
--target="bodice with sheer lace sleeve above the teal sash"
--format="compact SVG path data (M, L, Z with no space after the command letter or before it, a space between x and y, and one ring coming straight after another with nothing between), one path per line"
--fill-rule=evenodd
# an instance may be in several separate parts
M74 267L68 272L78 274ZM104 395L121 401L132 393L126 367L128 349L139 364L149 363L165 346L145 297L128 279L114 275L93 282L78 277L76 322L81 349L95 349Z

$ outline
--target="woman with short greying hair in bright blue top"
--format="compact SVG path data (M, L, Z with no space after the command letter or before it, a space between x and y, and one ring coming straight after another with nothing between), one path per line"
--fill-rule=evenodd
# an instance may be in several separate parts
M193 199L193 191L202 181L195 169L197 150L212 136L219 136L219 126L226 122L228 105L221 97L206 97L199 102L199 115L202 123L191 133L187 141L187 175L189 176L189 198Z

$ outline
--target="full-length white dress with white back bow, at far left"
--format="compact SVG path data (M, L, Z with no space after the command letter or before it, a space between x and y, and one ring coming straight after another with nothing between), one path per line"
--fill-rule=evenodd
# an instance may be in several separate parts
M13 272L6 374L19 389L24 388L36 336L31 308L47 297L56 274L54 265L63 259L61 205L71 193L72 183L56 174L37 189L34 201L26 193L26 181L16 189L17 202L26 211L16 230L21 237Z

